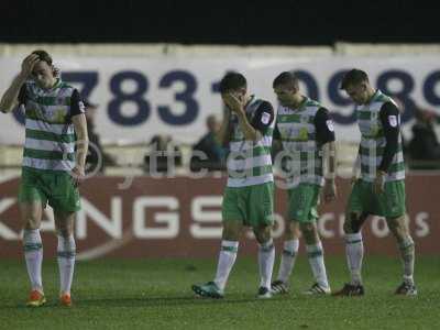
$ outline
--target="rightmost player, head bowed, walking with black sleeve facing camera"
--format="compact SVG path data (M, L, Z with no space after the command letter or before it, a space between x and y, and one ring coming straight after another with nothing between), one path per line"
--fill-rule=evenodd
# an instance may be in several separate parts
M353 187L345 210L344 232L351 283L337 296L362 296L361 277L364 248L361 228L369 215L386 218L397 240L404 265L404 280L398 295L417 295L414 284L414 241L405 221L405 164L402 151L400 114L396 103L370 85L369 76L352 69L342 79L341 89L356 103L361 144L353 173L361 167L361 176L353 178Z

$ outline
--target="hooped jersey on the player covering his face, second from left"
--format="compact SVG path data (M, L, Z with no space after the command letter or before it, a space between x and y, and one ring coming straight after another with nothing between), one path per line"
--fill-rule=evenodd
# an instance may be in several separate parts
M256 110L263 102L253 98L245 108L246 117L252 122ZM237 114L231 114L232 136L229 142L228 187L248 187L274 180L272 172L272 135L275 120L266 129L260 141L246 141Z

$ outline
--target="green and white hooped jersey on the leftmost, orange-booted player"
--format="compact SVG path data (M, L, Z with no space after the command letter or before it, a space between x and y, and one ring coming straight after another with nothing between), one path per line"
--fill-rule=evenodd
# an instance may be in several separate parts
M25 113L26 131L22 166L72 170L75 167L75 130L70 111L76 89L58 79L51 89L28 81L23 90L25 97L20 99L20 103ZM84 112L79 95L77 102L75 106Z

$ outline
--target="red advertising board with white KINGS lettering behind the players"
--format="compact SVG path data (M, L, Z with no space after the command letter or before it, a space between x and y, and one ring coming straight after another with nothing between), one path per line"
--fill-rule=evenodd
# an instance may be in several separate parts
M82 209L75 223L78 258L217 255L224 179L134 177L129 184L124 180L94 177L81 186ZM439 254L440 204L436 191L440 176L410 175L406 184L408 220L417 253ZM18 178L0 184L1 258L22 255L18 186ZM349 180L338 180L338 200L320 208L318 228L327 254L344 251L342 223ZM282 243L285 211L285 190L277 189L274 228L277 246ZM43 218L44 253L52 257L56 249L52 211L47 209ZM363 234L367 253L397 254L384 219L371 217ZM255 252L255 240L244 232L240 254Z

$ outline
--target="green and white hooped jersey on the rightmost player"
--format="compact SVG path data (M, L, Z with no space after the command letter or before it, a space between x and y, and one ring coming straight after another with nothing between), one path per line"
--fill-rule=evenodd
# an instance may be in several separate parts
M393 99L380 90L373 96L367 105L356 106L358 124L361 131L361 145L359 148L361 157L361 178L365 182L374 182L377 167L381 165L382 155L386 144L380 111L384 103L393 102ZM396 118L396 124L400 117ZM397 152L393 157L386 182L405 179L405 163L402 148L402 135L398 138Z

